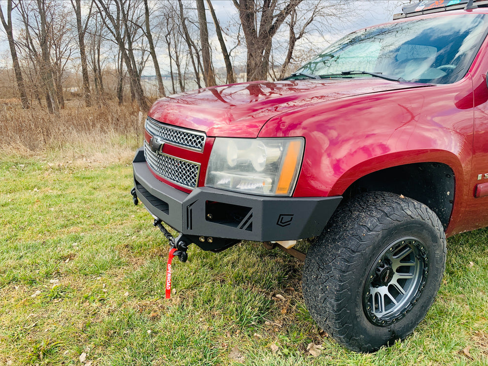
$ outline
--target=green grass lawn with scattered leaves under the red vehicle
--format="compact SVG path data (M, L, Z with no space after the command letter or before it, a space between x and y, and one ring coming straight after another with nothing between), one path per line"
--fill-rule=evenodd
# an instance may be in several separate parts
M488 363L488 230L449 239L413 335L357 354L314 325L302 264L259 243L190 247L164 299L168 243L132 203L131 166L48 163L0 162L0 365Z

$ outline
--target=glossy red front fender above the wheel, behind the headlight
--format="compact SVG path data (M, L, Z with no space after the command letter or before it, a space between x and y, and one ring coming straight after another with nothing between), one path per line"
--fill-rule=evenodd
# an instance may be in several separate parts
M294 197L341 195L368 173L419 162L451 166L461 193L471 171L471 78L304 106L272 118L259 136L305 137Z

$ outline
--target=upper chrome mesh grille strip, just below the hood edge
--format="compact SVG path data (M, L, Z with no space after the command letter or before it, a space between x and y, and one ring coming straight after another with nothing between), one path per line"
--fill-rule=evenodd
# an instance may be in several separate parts
M146 119L145 127L148 133L153 136L159 136L166 142L196 151L203 151L206 137L205 133L163 125L149 117Z

